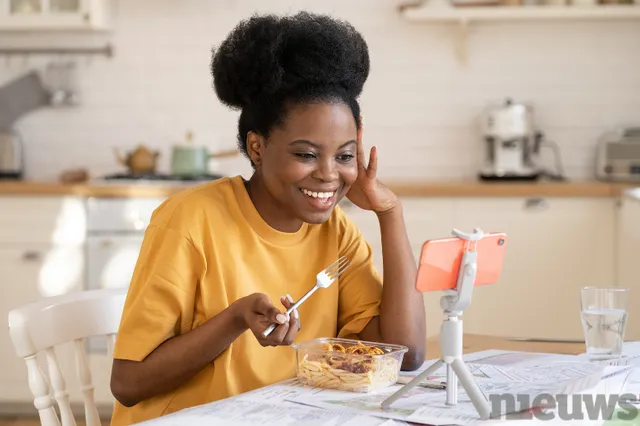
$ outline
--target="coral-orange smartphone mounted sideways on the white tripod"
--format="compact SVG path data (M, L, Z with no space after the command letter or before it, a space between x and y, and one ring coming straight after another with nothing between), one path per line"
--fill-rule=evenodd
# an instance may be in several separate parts
M465 241L457 237L428 240L422 245L416 290L455 290L465 244L476 244L478 270L474 286L493 284L500 279L507 247L507 234L488 233L480 241Z

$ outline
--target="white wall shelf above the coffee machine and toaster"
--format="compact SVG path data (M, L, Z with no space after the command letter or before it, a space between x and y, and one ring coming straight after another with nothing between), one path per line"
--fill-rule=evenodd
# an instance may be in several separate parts
M410 21L544 21L544 20L631 20L640 19L640 4L610 6L405 6L402 16Z

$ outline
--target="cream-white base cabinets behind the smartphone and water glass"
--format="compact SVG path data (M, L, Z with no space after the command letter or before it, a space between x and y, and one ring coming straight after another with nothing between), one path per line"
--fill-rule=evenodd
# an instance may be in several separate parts
M616 284L616 240L623 238L616 235L616 203L613 197L403 199L416 262L425 240L448 237L453 228L470 232L480 227L508 235L501 279L474 289L471 306L463 317L465 332L576 340L582 339L580 288ZM632 217L638 222L640 201L636 204L627 208L627 222ZM382 272L376 216L355 207L346 211L371 244L376 266ZM637 250L640 235L627 234L626 253L630 254L626 262L632 265L633 247ZM637 275L631 268L626 267L628 282ZM640 280L636 286L640 294ZM442 296L440 292L424 294L428 336L440 332Z

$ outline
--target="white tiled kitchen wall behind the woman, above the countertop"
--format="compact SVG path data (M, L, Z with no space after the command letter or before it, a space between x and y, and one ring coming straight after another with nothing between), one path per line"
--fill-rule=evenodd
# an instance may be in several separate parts
M160 151L193 131L213 150L235 147L237 113L211 87L211 48L254 12L333 13L365 36L371 76L361 97L366 144L380 150L380 176L474 178L484 155L481 114L506 97L530 103L536 124L561 149L568 177L591 178L597 139L640 122L637 20L472 23L468 62L456 56L457 24L410 22L400 1L117 0L109 33L3 33L1 46L113 45L113 57L72 56L80 104L44 108L17 123L26 176L57 179L86 168L124 171L113 153L139 143ZM0 81L46 69L55 56L0 57ZM551 151L545 155L549 157ZM545 160L553 167L553 158ZM248 173L242 157L216 160L222 174Z

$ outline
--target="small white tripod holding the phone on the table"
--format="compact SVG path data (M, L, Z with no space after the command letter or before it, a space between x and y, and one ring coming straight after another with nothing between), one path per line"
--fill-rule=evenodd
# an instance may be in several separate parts
M466 240L465 251L460 262L458 283L455 290L440 299L440 306L447 319L440 327L440 347L442 358L434 362L429 368L420 373L415 379L398 389L394 394L382 401L382 408L387 409L402 395L417 386L426 376L433 374L442 364L447 366L447 405L458 403L458 383L460 379L462 387L471 398L482 420L490 415L489 401L482 393L478 384L473 379L471 372L462 360L462 320L459 318L462 311L471 303L471 293L477 272L477 242L482 239L482 230L475 228L472 234L465 234L456 229L453 235Z

